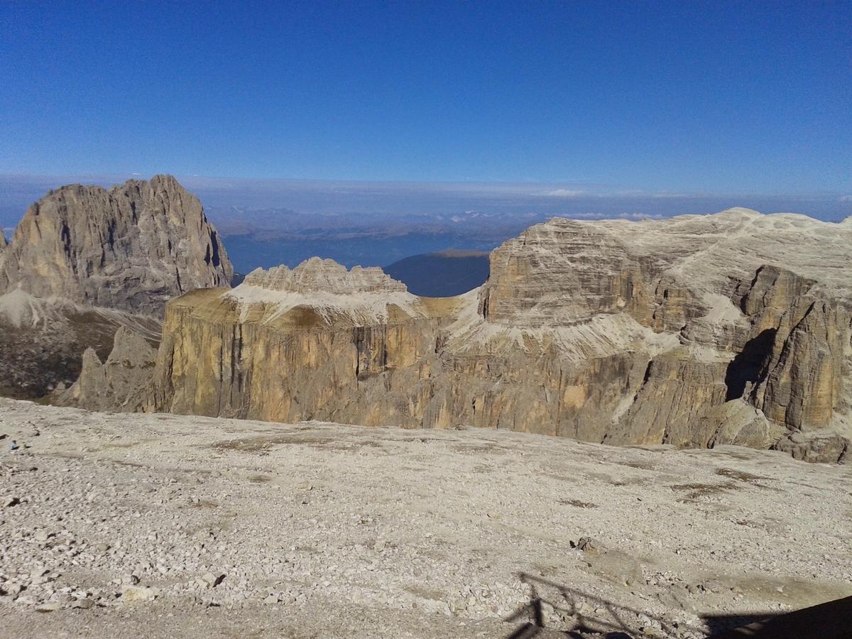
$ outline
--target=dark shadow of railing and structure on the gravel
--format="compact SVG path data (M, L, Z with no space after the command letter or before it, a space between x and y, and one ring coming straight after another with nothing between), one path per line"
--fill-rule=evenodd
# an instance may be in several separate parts
M588 639L590 636L633 639L646 636L678 637L685 633L709 639L852 639L852 596L792 613L703 615L704 626L694 627L678 625L670 619L620 606L528 573L519 573L518 578L530 586L530 601L504 619L507 622L520 622L506 639ZM543 596L546 590L556 594ZM590 604L594 613L587 612L589 606L582 605L584 603ZM547 619L552 619L554 613L561 622L545 627ZM639 619L648 619L652 628L643 627ZM648 625L648 622L644 625ZM648 633L648 630L651 632Z

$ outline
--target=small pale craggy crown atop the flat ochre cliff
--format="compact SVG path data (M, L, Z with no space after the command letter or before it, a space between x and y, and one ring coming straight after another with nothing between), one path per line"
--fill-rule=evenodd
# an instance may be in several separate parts
M334 260L320 257L311 257L293 269L284 265L268 270L256 268L245 276L243 285L302 294L351 295L407 291L406 285L392 279L381 268L355 266L347 270Z

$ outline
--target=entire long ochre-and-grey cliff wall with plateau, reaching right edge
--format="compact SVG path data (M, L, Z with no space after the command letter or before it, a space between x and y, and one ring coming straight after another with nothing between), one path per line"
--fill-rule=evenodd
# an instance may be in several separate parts
M444 299L327 261L259 271L170 302L145 409L838 461L850 231L750 210L557 219L495 250L481 289Z

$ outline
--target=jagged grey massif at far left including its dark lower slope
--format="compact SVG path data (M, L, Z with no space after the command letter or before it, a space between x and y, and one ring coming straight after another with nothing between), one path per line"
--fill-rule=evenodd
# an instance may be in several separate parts
M232 276L199 199L174 177L48 193L0 249L0 394L72 383L83 351L107 357L120 327L158 343L168 299Z

